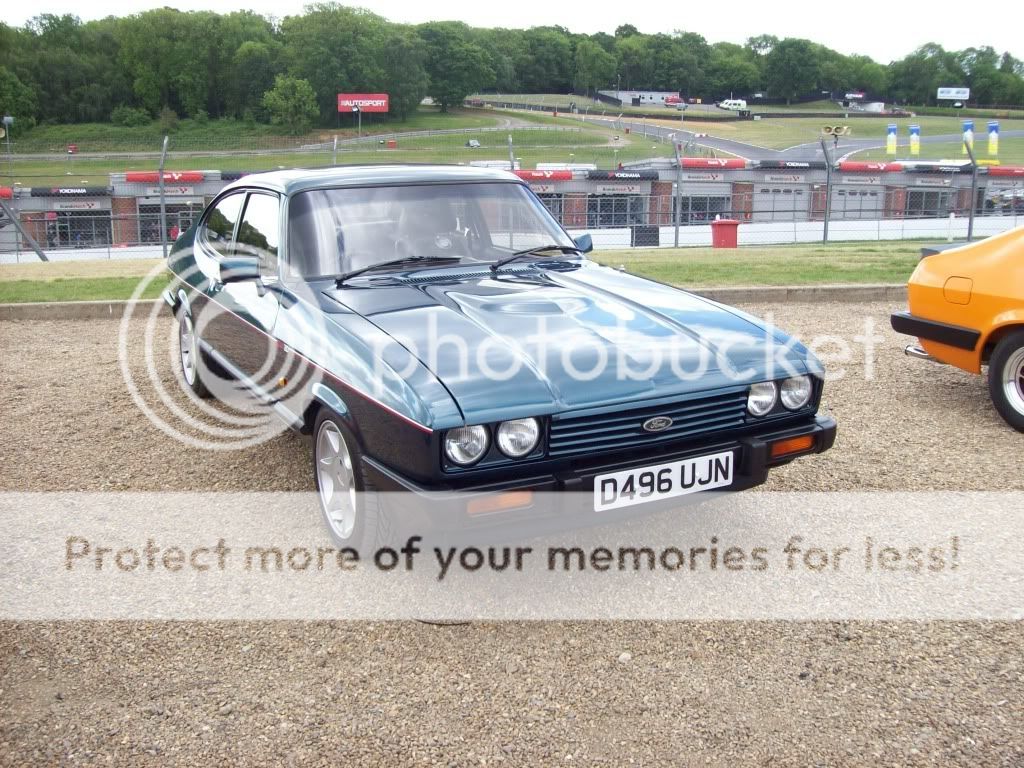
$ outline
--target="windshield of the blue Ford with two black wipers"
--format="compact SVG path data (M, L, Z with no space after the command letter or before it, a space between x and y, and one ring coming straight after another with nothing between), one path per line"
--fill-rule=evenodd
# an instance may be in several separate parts
M288 224L289 272L306 280L399 258L492 264L529 248L574 246L513 182L313 189L292 198Z

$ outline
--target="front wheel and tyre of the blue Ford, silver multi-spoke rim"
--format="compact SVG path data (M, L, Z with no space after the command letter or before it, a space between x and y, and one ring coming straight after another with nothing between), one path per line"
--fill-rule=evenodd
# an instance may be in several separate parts
M360 559L370 557L383 546L386 517L362 471L355 439L327 409L313 428L313 475L321 512L335 544L355 549Z

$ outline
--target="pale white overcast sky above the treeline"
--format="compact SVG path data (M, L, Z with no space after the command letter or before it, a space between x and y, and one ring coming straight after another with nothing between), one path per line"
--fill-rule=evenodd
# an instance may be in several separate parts
M710 42L742 43L748 37L770 34L805 37L843 53L864 53L883 63L902 58L919 45L937 42L959 49L991 45L1024 58L1020 35L1019 0L1004 3L1002 23L989 24L989 5L978 3L957 18L953 4L919 0L724 0L724 2L607 2L607 0L367 0L361 5L393 22L419 23L460 19L474 27L537 27L560 25L572 32L613 32L632 24L641 32L686 30ZM181 10L247 8L278 17L299 13L304 0L4 0L0 18L23 25L38 13L76 13L84 19L126 15L169 5ZM1016 16L1012 18L1010 16ZM993 19L997 22L996 19Z

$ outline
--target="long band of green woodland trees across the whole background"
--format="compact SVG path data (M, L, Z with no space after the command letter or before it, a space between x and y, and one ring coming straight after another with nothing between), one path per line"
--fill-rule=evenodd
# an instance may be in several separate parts
M4 97L20 111L28 103L37 121L57 123L108 121L116 111L139 121L139 110L153 118L164 108L193 119L263 122L263 96L281 74L309 84L324 125L337 120L339 91L387 91L400 119L424 94L447 110L483 88L565 93L615 82L703 97L766 86L788 99L857 89L910 104L935 103L938 87L962 85L981 106L1024 103L1024 62L984 45L953 51L927 43L884 66L772 35L711 46L692 33L647 35L628 24L609 33L407 27L336 2L314 2L280 24L248 10L165 7L84 23L46 13L23 27L0 23L0 62Z

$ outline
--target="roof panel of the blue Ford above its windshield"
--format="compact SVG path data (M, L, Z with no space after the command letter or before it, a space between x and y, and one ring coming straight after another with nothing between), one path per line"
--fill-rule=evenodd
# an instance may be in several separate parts
M225 189L259 186L284 195L338 186L433 184L459 181L515 181L518 176L497 168L463 165L349 165L297 168L253 173L232 181Z

